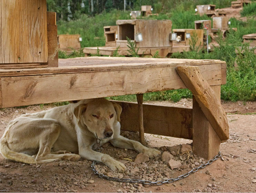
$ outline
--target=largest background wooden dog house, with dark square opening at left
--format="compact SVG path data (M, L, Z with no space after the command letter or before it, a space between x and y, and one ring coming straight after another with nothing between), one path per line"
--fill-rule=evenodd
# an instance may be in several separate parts
M127 48L127 39L135 41L136 47L169 47L171 20L117 20L117 46ZM157 30L155 30L157 29Z

